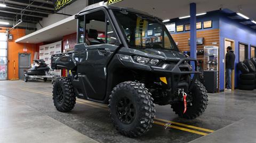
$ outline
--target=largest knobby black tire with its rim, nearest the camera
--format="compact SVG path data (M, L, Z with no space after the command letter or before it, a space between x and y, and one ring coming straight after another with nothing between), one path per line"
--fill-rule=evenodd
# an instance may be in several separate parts
M141 136L154 122L155 104L150 92L142 83L119 83L111 92L108 107L114 127L127 137Z

